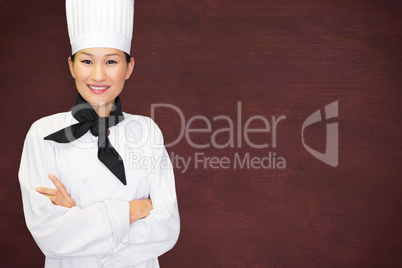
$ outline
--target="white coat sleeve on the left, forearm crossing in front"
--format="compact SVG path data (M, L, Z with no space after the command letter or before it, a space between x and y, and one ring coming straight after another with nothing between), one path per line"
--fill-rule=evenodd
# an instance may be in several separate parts
M55 189L48 173L59 175L55 143L43 140L48 128L46 121L32 125L21 157L18 176L29 231L47 257L113 254L118 245L128 242L128 202L105 201L85 208L65 208L53 205L48 197L36 192L36 187Z

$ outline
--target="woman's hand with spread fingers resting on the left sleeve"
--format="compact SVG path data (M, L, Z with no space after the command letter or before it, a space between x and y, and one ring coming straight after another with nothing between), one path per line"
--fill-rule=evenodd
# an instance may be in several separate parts
M56 178L56 176L52 174L49 174L48 176L49 179L56 186L57 190L51 188L38 187L36 188L36 191L38 193L43 194L44 196L49 197L50 201L52 201L52 203L55 205L63 206L66 208L72 208L73 206L75 206L74 200L70 197L70 195L67 193L66 188Z

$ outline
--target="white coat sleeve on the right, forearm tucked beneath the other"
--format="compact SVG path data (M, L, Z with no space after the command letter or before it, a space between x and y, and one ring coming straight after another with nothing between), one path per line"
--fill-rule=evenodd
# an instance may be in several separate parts
M157 125L150 120L151 141L149 154L159 166L149 171L150 199L153 209L148 217L130 225L127 247L117 252L115 261L122 267L156 258L170 250L180 232L173 167L163 146L163 136Z

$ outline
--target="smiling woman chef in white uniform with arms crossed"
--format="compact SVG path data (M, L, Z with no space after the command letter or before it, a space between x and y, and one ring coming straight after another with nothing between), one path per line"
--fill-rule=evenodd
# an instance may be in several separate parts
M26 224L45 267L159 267L180 229L156 124L121 111L134 68L133 0L67 0L78 90L72 111L30 128L19 170Z

